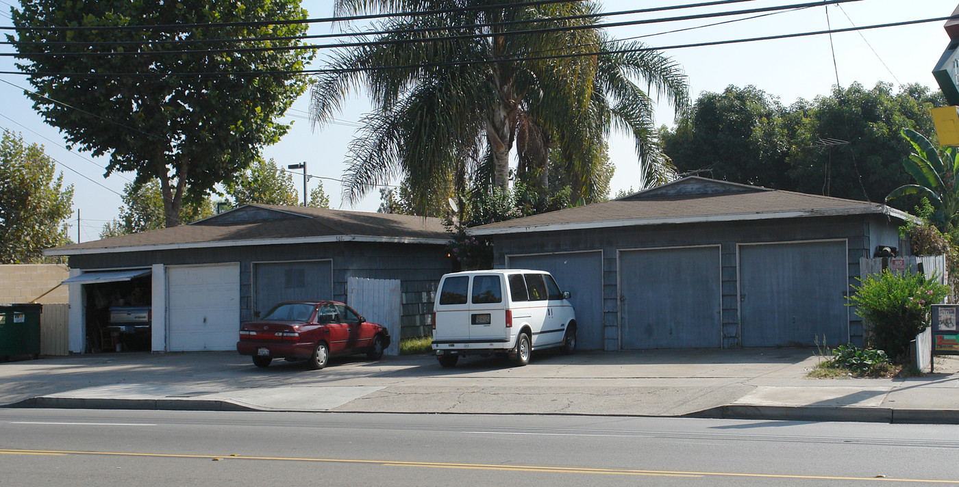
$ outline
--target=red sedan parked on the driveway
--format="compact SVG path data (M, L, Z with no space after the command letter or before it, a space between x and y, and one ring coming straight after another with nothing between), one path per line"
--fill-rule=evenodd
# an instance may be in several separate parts
M258 367L273 359L306 359L310 368L323 368L330 356L365 353L380 360L389 346L385 326L363 319L337 301L281 302L259 321L240 327L240 355L253 357Z

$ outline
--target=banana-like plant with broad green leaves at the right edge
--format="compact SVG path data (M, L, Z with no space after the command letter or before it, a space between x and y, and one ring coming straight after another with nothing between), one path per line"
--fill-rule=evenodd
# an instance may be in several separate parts
M902 160L906 172L917 184L903 185L893 189L886 200L915 194L923 197L932 207L927 218L942 232L952 232L959 223L959 149L935 145L915 130L903 128L902 137L912 145L913 152Z

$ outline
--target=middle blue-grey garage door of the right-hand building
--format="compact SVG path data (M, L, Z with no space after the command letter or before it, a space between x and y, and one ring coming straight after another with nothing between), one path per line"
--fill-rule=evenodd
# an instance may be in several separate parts
M722 344L719 246L620 252L622 347Z

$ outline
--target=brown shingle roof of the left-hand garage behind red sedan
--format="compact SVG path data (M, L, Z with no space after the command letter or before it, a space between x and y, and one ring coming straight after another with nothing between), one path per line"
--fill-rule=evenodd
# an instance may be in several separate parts
M249 213L244 218L244 213ZM46 255L136 252L268 243L372 240L441 243L450 236L439 218L365 211L246 205L190 225L132 233L48 249Z

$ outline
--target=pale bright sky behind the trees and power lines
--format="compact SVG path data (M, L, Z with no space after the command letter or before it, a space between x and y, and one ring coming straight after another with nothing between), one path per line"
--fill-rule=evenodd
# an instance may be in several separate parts
M332 0L304 0L303 6L311 17L332 15ZM603 11L626 11L655 6L672 6L693 1L607 0L602 2ZM801 0L757 0L732 4L712 11L755 9L774 5L792 5ZM0 0L0 26L11 26L9 9L14 0ZM858 0L829 7L832 29L865 27L906 20L920 20L948 16L956 8L955 1L947 0ZM675 16L709 10L670 11L636 15L617 15L607 22L621 22L643 18ZM753 14L755 15L755 14ZM777 35L783 33L806 33L827 29L827 12L823 7L802 11L784 11L774 15L748 19L753 15L690 20L660 24L646 24L610 29L620 39L644 36L639 39L649 46L665 47L682 44L713 42ZM743 19L724 25L708 26L730 19ZM755 85L778 97L784 104L803 98L811 100L818 95L828 95L836 83L849 86L859 82L867 88L878 81L894 83L895 87L918 82L936 87L931 75L939 56L947 47L948 36L943 30L944 22L931 22L906 27L865 30L832 35L795 37L781 40L727 44L685 49L667 49L665 54L677 60L690 78L690 96L722 91L726 86ZM665 33L678 29L695 28L678 33ZM327 25L314 25L311 33L330 33ZM832 52L835 52L833 63ZM10 53L4 46L0 53ZM325 56L316 56L314 67L322 67ZM0 71L15 70L12 58L0 58ZM44 123L37 116L21 88L29 88L26 77L0 75L0 127L21 132L28 143L43 144L47 154L58 161L67 184L74 185L74 214L70 237L78 238L77 212L81 212L80 241L99 238L104 224L117 215L121 205L120 194L124 184L132 179L130 174L114 174L104 178L104 159L94 160L88 154L68 151L58 129ZM8 84L11 83L11 84ZM16 85L16 86L12 86ZM20 87L20 88L17 88ZM314 176L332 179L311 179L309 188L316 188L322 181L330 195L331 207L340 206L339 182L342 176L346 145L352 140L357 122L369 108L362 97L351 100L338 117L339 121L314 130L307 120L309 92L297 100L286 120L293 122L290 133L279 143L267 147L265 155L277 165L286 166L306 162L308 172ZM672 107L663 100L656 114L657 123L672 123ZM610 157L616 165L612 191L639 187L639 170L633 143L628 138L614 136L610 141ZM298 169L297 169L298 171ZM92 180L92 181L91 181ZM301 176L294 176L294 186L302 188ZM379 206L379 192L368 195L352 210L375 211ZM348 207L342 207L349 209Z

